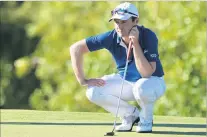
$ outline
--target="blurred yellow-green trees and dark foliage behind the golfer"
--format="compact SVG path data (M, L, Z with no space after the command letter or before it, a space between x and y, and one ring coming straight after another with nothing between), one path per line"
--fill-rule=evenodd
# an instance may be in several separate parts
M1 108L104 112L75 79L69 47L113 29L120 2L1 2ZM206 3L132 2L159 39L167 91L157 115L206 116ZM87 77L116 72L111 55L85 55Z

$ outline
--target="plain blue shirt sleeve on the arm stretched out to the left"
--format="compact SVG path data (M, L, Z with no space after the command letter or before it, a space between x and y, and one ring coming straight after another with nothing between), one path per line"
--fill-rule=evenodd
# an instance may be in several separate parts
M113 35L111 31L86 38L87 47L91 52L103 48L108 49L112 41Z

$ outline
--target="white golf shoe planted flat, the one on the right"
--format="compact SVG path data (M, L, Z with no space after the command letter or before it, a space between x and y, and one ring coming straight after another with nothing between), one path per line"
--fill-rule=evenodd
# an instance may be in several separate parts
M152 132L152 125L153 125L153 122L139 122L138 123L138 126L137 126L137 129L136 129L136 132L137 133L151 133Z

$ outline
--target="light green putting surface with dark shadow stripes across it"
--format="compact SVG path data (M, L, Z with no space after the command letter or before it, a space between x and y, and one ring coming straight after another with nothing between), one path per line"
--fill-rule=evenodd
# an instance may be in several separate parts
M103 137L113 128L108 113L2 110L1 137ZM118 124L120 120L118 119ZM154 116L152 133L116 132L119 137L202 137L206 118Z

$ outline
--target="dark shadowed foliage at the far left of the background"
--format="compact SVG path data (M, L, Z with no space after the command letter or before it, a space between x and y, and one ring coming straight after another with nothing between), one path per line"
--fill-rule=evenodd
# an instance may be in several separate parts
M14 12L19 6L19 2L0 4L1 108L30 108L29 97L39 86L29 56L39 39L26 35L24 24L27 21L17 20L18 16Z

